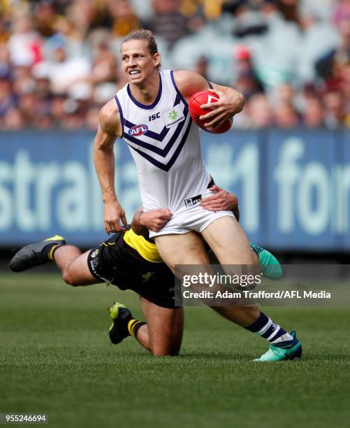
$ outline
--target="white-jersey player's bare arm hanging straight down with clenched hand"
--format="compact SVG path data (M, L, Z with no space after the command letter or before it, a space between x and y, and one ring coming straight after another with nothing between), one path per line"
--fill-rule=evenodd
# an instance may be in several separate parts
M101 185L104 204L103 223L105 231L123 231L127 226L125 212L115 194L115 155L113 145L122 136L122 123L114 99L101 108L99 127L94 141L94 163ZM120 225L120 220L124 227Z

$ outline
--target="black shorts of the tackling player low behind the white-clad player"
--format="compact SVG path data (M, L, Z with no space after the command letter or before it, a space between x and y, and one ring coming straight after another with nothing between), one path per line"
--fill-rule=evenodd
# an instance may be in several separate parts
M93 248L87 257L89 271L101 282L133 290L163 308L174 308L175 277L165 263L152 263L141 257L123 239L114 234Z

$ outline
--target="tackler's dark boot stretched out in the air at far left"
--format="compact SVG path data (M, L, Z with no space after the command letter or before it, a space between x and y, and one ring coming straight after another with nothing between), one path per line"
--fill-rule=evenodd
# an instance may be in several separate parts
M53 260L54 248L61 245L66 245L66 241L59 235L47 238L45 241L25 245L10 260L10 269L14 272L22 272L48 263Z

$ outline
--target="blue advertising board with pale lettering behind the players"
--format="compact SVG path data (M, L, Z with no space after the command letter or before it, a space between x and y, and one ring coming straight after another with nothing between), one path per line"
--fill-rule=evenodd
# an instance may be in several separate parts
M235 192L249 238L283 250L350 249L350 131L202 132L217 185ZM21 131L0 135L0 246L62 234L103 240L103 204L93 163L94 134ZM136 166L115 143L115 187L129 222L140 206Z

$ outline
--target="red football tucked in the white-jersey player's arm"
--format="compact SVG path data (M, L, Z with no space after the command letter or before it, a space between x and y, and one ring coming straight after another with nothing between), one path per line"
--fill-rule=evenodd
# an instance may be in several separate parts
M189 99L189 113L191 114L192 119L198 127L204 129L204 131L210 132L211 134L222 134L223 132L228 131L232 125L232 119L227 119L223 124L221 124L221 127L208 131L204 126L206 122L199 119L200 116L207 114L209 110L204 110L203 108L200 108L200 106L203 106L203 104L217 103L217 101L219 101L217 94L210 91L196 92L196 94L193 94Z

